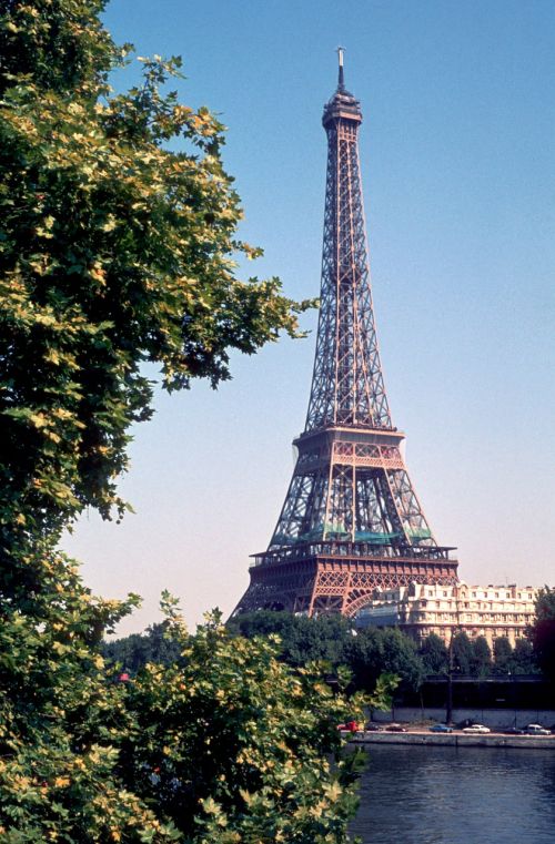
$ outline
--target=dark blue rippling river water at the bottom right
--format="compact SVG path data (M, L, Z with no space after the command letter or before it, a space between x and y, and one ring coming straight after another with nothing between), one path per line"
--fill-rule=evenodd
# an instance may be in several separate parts
M555 844L555 752L367 745L364 844Z

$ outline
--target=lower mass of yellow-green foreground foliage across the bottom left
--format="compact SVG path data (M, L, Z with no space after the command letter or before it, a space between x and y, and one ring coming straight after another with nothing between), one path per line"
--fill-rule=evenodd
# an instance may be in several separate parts
M99 637L130 608L92 599L63 557L41 562L50 583L0 628L3 841L347 841L362 756L336 724L362 698L218 617L189 635L168 596L179 658L121 682Z

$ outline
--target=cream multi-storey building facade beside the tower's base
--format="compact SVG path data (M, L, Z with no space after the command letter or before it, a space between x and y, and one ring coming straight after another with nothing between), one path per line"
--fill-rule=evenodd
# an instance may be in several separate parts
M373 600L356 616L357 627L398 627L422 641L436 633L448 644L464 630L472 639L483 635L493 648L506 637L514 647L534 620L536 587L455 586L411 583L376 590Z

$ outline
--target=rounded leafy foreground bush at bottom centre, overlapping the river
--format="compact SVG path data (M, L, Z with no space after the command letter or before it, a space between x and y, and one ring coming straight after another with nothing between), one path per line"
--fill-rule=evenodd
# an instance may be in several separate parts
M340 753L343 696L314 663L278 661L273 635L232 637L213 618L190 638L175 616L172 635L183 665L147 665L128 684L127 786L185 841L346 841L361 756ZM362 703L349 703L359 719Z

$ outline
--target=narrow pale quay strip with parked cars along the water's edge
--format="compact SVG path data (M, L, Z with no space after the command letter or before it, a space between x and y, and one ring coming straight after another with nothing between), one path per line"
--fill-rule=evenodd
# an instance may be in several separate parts
M423 744L448 748L516 748L555 751L555 735L503 735L502 733L468 734L462 732L431 733L411 730L406 733L360 732L353 744Z

